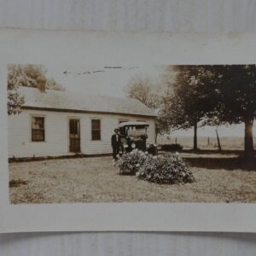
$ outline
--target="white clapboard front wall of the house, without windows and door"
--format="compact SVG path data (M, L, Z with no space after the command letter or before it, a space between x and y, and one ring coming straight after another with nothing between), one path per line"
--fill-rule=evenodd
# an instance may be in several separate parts
M44 116L45 141L32 142L31 118ZM80 119L81 154L112 153L111 135L119 119L144 120L149 124L148 143L154 143L154 117L102 113L62 113L24 109L9 116L9 158L60 156L69 152L68 119ZM101 119L101 140L91 140L91 119Z

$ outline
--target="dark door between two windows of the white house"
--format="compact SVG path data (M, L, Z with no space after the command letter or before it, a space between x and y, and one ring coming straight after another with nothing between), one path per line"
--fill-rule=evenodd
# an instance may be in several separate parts
M81 152L80 143L80 120L69 119L69 151Z

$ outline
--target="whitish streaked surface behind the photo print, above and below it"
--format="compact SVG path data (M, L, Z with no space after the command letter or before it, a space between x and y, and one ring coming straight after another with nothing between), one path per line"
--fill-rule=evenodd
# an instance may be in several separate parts
M0 0L0 26L147 32L255 32L254 0ZM107 220L108 221L108 220ZM0 255L255 255L256 235L0 235Z

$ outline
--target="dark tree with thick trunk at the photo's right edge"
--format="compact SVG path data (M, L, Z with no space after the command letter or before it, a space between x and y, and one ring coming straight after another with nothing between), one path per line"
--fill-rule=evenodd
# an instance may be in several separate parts
M253 121L256 118L255 65L212 67L218 89L218 120L222 124L245 124L244 151L253 154Z

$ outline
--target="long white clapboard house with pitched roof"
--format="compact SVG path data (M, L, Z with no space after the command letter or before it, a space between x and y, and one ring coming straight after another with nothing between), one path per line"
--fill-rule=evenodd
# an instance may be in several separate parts
M154 143L154 112L135 99L20 87L21 113L9 116L9 158L109 154L113 130L145 121Z

